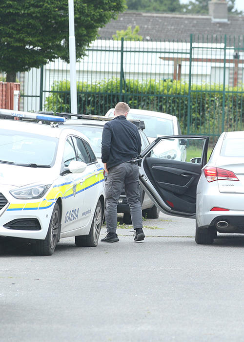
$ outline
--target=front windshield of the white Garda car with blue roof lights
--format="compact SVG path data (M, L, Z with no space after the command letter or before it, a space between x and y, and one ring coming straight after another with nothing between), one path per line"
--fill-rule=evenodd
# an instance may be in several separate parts
M57 145L57 138L0 128L0 163L51 167Z

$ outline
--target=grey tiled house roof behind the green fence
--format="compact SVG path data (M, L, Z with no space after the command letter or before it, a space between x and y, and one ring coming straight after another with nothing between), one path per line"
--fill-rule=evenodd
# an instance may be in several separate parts
M240 36L240 43L243 45L244 16L238 15L229 15L227 22L214 22L209 15L126 11L119 14L117 20L112 20L102 27L98 33L102 39L112 39L117 30L126 30L128 26L133 30L136 25L140 27L139 35L143 40L189 42L190 34L194 34L195 42L203 42L202 36L208 35L209 39L211 36L218 36L219 43L220 39L224 42L226 34L227 45L233 44L230 42L230 36L235 36L236 42Z

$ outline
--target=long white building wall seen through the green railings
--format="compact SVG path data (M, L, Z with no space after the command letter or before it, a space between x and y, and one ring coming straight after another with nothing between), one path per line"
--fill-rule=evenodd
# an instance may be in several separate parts
M193 43L192 58L211 58L224 60L224 44ZM97 51L96 51L97 50ZM110 51L102 51L110 50ZM98 40L90 45L85 56L76 63L77 81L85 81L88 84L103 82L112 77L120 77L121 70L121 41ZM125 78L155 79L157 81L173 78L174 64L160 57L189 57L190 43L170 42L124 42L123 70ZM226 59L232 59L234 49L226 51ZM244 58L244 56L240 56ZM244 64L239 64L243 67ZM225 84L229 82L229 68L233 64L226 64ZM55 60L44 66L43 99L48 96L48 91L55 81L70 80L70 65ZM194 84L223 84L224 64L192 62L192 83ZM189 62L182 62L182 78L189 81ZM242 72L244 81L244 73ZM25 95L30 98L22 98L23 110L39 110L40 102L40 69L31 69L24 73ZM37 96L37 97L35 97ZM43 101L44 103L44 101ZM24 105L23 105L24 104Z

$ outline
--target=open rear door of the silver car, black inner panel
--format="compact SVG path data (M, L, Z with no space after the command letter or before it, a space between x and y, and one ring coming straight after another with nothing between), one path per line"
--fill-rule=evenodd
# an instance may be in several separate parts
M158 137L142 151L140 185L165 214L195 217L196 189L207 162L208 137Z

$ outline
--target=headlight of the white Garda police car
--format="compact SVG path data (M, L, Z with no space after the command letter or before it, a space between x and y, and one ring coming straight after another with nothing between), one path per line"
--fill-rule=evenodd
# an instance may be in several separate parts
M21 187L15 190L11 190L12 196L18 199L36 199L41 198L47 190L50 188L51 184L38 184L29 187Z

